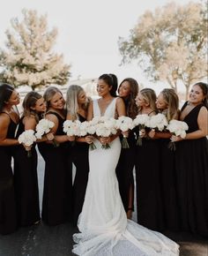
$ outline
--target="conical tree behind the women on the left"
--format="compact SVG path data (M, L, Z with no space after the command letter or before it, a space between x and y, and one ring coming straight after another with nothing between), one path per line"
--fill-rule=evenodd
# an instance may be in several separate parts
M63 64L63 55L52 52L57 30L48 30L47 16L23 10L24 19L11 19L11 30L5 32L7 43L0 49L0 79L15 87L34 88L49 84L64 85L70 77L70 65Z

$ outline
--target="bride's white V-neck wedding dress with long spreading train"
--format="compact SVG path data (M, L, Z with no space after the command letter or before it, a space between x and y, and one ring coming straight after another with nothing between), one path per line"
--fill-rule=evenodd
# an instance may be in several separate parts
M116 98L104 116L115 117ZM93 101L93 117L100 117L97 100ZM127 220L115 176L121 152L120 139L102 149L99 140L89 152L90 172L85 202L78 218L80 233L73 235L72 252L81 256L174 256L179 245L159 232L148 230Z

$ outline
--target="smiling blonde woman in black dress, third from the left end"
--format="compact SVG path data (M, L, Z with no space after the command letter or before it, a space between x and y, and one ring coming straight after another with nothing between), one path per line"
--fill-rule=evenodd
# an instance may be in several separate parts
M47 102L45 118L55 124L51 132L55 135L56 147L51 142L39 144L45 160L41 217L48 225L57 225L71 221L72 168L67 159L69 137L63 132L66 119L63 94L56 87L48 87L43 97Z

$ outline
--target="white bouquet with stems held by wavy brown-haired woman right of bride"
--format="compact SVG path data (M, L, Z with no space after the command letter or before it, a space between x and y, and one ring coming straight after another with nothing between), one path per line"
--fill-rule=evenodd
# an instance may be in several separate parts
M118 117L116 120L116 129L121 130L122 132L128 132L134 128L133 120L130 117ZM130 148L128 140L125 135L122 139L123 148Z

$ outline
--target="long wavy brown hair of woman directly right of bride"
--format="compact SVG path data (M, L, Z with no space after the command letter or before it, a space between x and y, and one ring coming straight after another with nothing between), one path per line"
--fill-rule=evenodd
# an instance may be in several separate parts
M125 99L123 99L126 106L126 114L128 117L135 118L137 117L137 112L138 112L137 104L135 101L138 94L138 90L139 90L138 83L136 79L132 79L132 78L123 79L123 81L118 87L118 90L122 86L123 82L128 82L130 85L130 94Z

